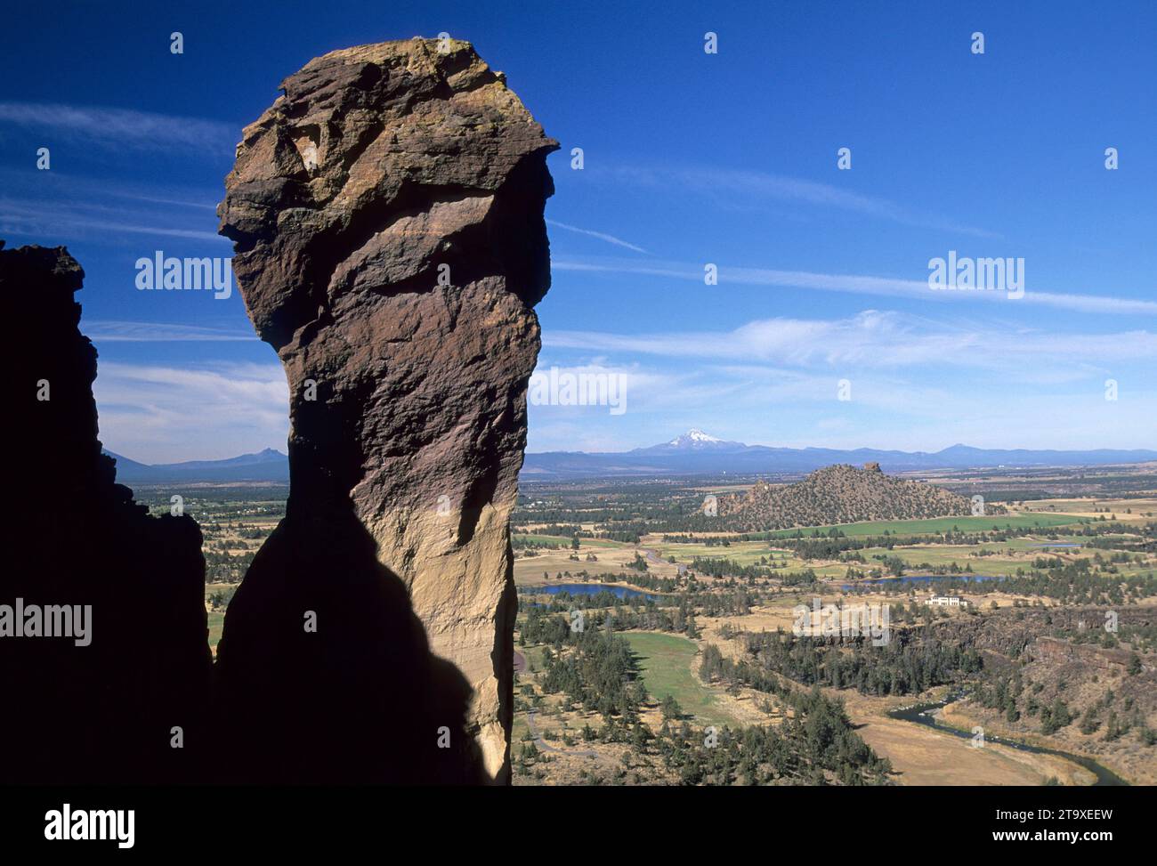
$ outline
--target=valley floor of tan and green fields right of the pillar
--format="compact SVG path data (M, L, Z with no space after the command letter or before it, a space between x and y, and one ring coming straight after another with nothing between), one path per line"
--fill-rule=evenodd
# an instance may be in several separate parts
M610 611L614 633L633 652L632 676L646 690L635 721L653 733L681 725L694 739L713 728L776 729L803 719L797 709L788 706L790 702L750 684L706 681L700 666L708 648L731 662L750 662L752 656L745 655L746 636L776 631L790 634L797 618L794 609L799 604L810 607L815 597L821 597L825 604L890 606L901 611L902 618L894 622L901 632L915 634L931 628L929 633L949 643L977 641L987 663L983 674L970 682L986 688L1000 677L1023 677L1024 682L1008 681L1015 683L1009 688L1016 689L1016 724L1004 720L1003 709L987 709L971 697L941 711L939 724L966 732L982 725L986 737L980 748L951 732L889 714L918 702L939 700L946 687L919 695L878 696L825 685L823 695L842 703L855 735L891 764L889 784L1083 786L1097 781L1089 769L1073 759L1016 749L994 737L1079 755L1130 784L1155 784L1157 748L1147 744L1145 737L1151 737L1157 727L1157 689L1148 684L1157 677L1157 632L1150 625L1157 614L1157 538L1152 522L1157 496L1064 500L1063 505L1066 511L1061 513L1056 502L1036 500L1012 508L1009 520L992 519L975 527L958 526L964 522L960 519L892 521L887 526L849 526L845 528L849 531L840 534L865 540L863 546L842 548L862 557L862 571L885 560L900 563L901 574L927 574L933 570L933 577L923 579L926 584L849 577L849 566L856 563L801 553L804 548L798 537L747 540L740 534L717 534L703 535L693 543L673 543L670 533L649 533L642 534L638 543L582 536L575 546L573 538L551 535L547 524L541 524L532 528L533 536L528 536L538 549L516 558L515 579L522 599L519 629L526 606L532 603L548 606L543 608L548 616L563 616L575 609L592 616L600 616L599 610ZM1121 513L1115 512L1117 507ZM580 516L581 511L576 511L573 526L589 533L600 526L582 522ZM994 531L997 526L1001 533ZM1097 534L1090 535L1086 527L1096 528ZM886 530L885 536L872 535L882 530ZM811 533L805 531L804 541ZM1090 538L1103 541L1090 544ZM640 557L646 567L639 566ZM712 574L720 566L706 567L705 563L722 564L722 573ZM813 575L809 578L812 585L794 586L791 581L805 572ZM961 584L961 575L968 574L993 575L994 580ZM1025 588L1029 584L1024 575L1032 575L1032 586L1062 588L1048 589L1048 595L1031 592ZM1071 577L1066 584L1061 575ZM953 586L959 588L952 592L968 604L951 611L926 607L928 593L935 592L935 581L941 580L957 581ZM628 587L654 601L594 602L596 596L587 594L572 597L565 592L536 593L551 585L562 585L563 590L589 587L584 592L591 594L606 587ZM1061 593L1060 597L1054 592ZM738 603L736 599L742 599L743 610L731 612L729 606ZM641 612L647 610L653 612ZM1106 611L1125 623L1120 633L1100 634ZM1022 639L1017 637L1022 633L1029 643L1023 656L1018 655ZM1036 651L1036 641L1046 636L1057 646L1073 650L1063 651L1069 654L1060 660L1044 655ZM567 646L566 641L557 644L553 652L566 656L572 652ZM656 750L655 743L636 732L635 737L647 744L633 746L629 724L607 734L604 725L609 717L561 700L559 693L544 689L548 667L543 656L545 648L519 647L530 669L521 673L516 683L511 749L516 784L687 784L686 778L680 778L678 764L672 766L661 759L669 751L663 736ZM809 689L808 683L782 676L779 680L789 690ZM676 713L666 706L670 700ZM1041 725L1045 715L1037 704L1055 706L1056 700L1071 700L1067 707L1071 719L1046 734ZM529 713L533 715L532 725L528 725ZM1083 733L1077 725L1082 713L1103 724L1090 725L1093 733ZM1117 724L1114 718L1128 719L1121 721L1123 733L1105 736L1104 725ZM825 775L828 783L837 780L832 773ZM722 777L709 778L714 783L699 784L717 784ZM806 772L788 772L765 784L817 780Z

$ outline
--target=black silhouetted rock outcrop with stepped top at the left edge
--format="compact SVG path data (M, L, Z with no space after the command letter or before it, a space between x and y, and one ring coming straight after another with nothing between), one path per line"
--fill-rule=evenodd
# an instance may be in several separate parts
M200 529L148 516L101 454L80 265L64 248L2 247L0 296L20 336L2 340L16 411L5 424L0 783L194 780L212 663ZM28 610L47 606L82 617L90 606L90 643L27 636ZM52 612L56 631L66 617Z

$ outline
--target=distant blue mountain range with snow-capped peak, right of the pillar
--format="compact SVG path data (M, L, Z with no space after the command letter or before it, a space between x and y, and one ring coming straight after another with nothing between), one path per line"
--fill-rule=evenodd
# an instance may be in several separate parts
M1157 461L1157 450L1085 452L971 448L953 445L939 452L889 452L876 448L772 448L729 442L690 430L680 436L629 452L541 452L528 454L522 477L559 478L774 472L811 472L834 463L879 463L884 471L996 467L1095 467Z

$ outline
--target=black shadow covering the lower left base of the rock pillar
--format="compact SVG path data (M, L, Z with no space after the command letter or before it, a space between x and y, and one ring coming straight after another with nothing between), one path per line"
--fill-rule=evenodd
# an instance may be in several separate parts
M429 652L353 508L281 521L229 604L216 729L228 781L478 784L471 689Z

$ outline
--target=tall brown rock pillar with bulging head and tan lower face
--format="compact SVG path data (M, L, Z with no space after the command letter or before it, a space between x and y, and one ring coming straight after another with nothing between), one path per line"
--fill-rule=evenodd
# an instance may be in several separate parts
M282 88L245 129L219 214L250 318L289 380L290 497L230 604L220 671L237 697L258 688L253 653L288 665L259 644L274 628L271 606L283 608L273 618L299 624L305 606L319 641L348 645L327 644L334 655L320 667L309 636L287 632L282 648L329 681L325 666L356 643L333 634L344 624L316 607L356 610L376 589L326 568L324 550L364 533L384 568L375 579L400 580L398 603L412 604L430 652L469 685L463 731L487 778L506 781L516 604L508 519L539 348L533 306L550 286L543 208L553 193L546 155L558 145L464 42L336 51ZM300 572L309 557L319 573L278 573ZM378 626L395 628L392 615L383 609ZM362 625L358 639L373 640L378 626ZM378 647L383 663L421 669L420 650L393 638L418 655ZM392 712L421 699L395 695ZM427 711L456 713L414 714ZM308 735L325 725L311 720ZM436 739L421 726L413 736L415 751Z

